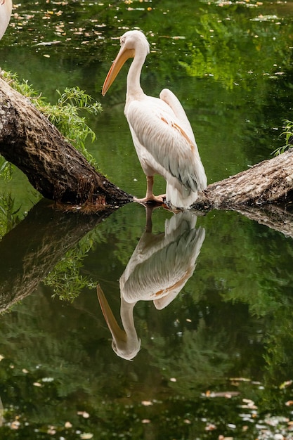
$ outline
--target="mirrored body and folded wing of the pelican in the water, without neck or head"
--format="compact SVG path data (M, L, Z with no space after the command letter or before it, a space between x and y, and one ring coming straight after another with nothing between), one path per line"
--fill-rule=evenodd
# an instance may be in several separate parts
M121 295L126 302L154 300L159 309L178 295L193 274L204 241L204 229L196 230L195 221L191 212L176 214L170 227L166 226L161 246L155 247L153 254L149 252L148 259L129 261L128 270L119 280ZM159 301L163 297L165 299Z

